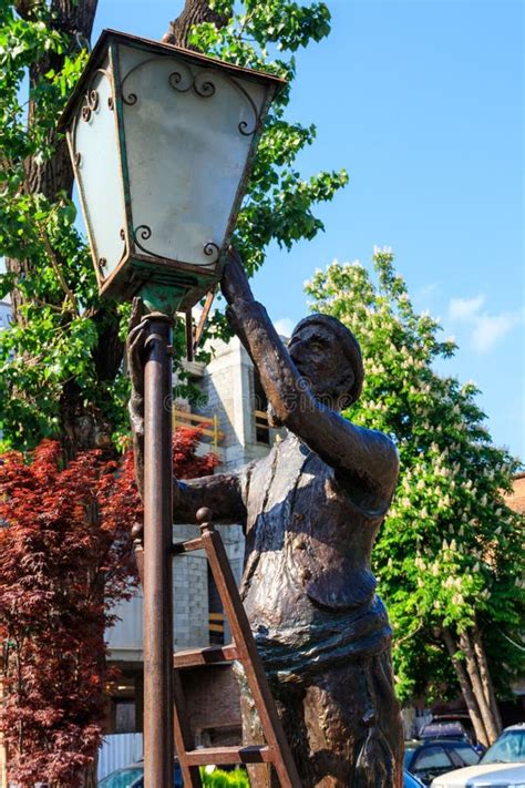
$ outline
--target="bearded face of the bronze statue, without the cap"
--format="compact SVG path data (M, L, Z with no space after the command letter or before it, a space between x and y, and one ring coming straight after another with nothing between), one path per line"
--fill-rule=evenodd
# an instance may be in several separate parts
M328 326L312 323L294 331L288 351L321 402L338 410L348 407L344 395L351 389L354 376L339 338Z

